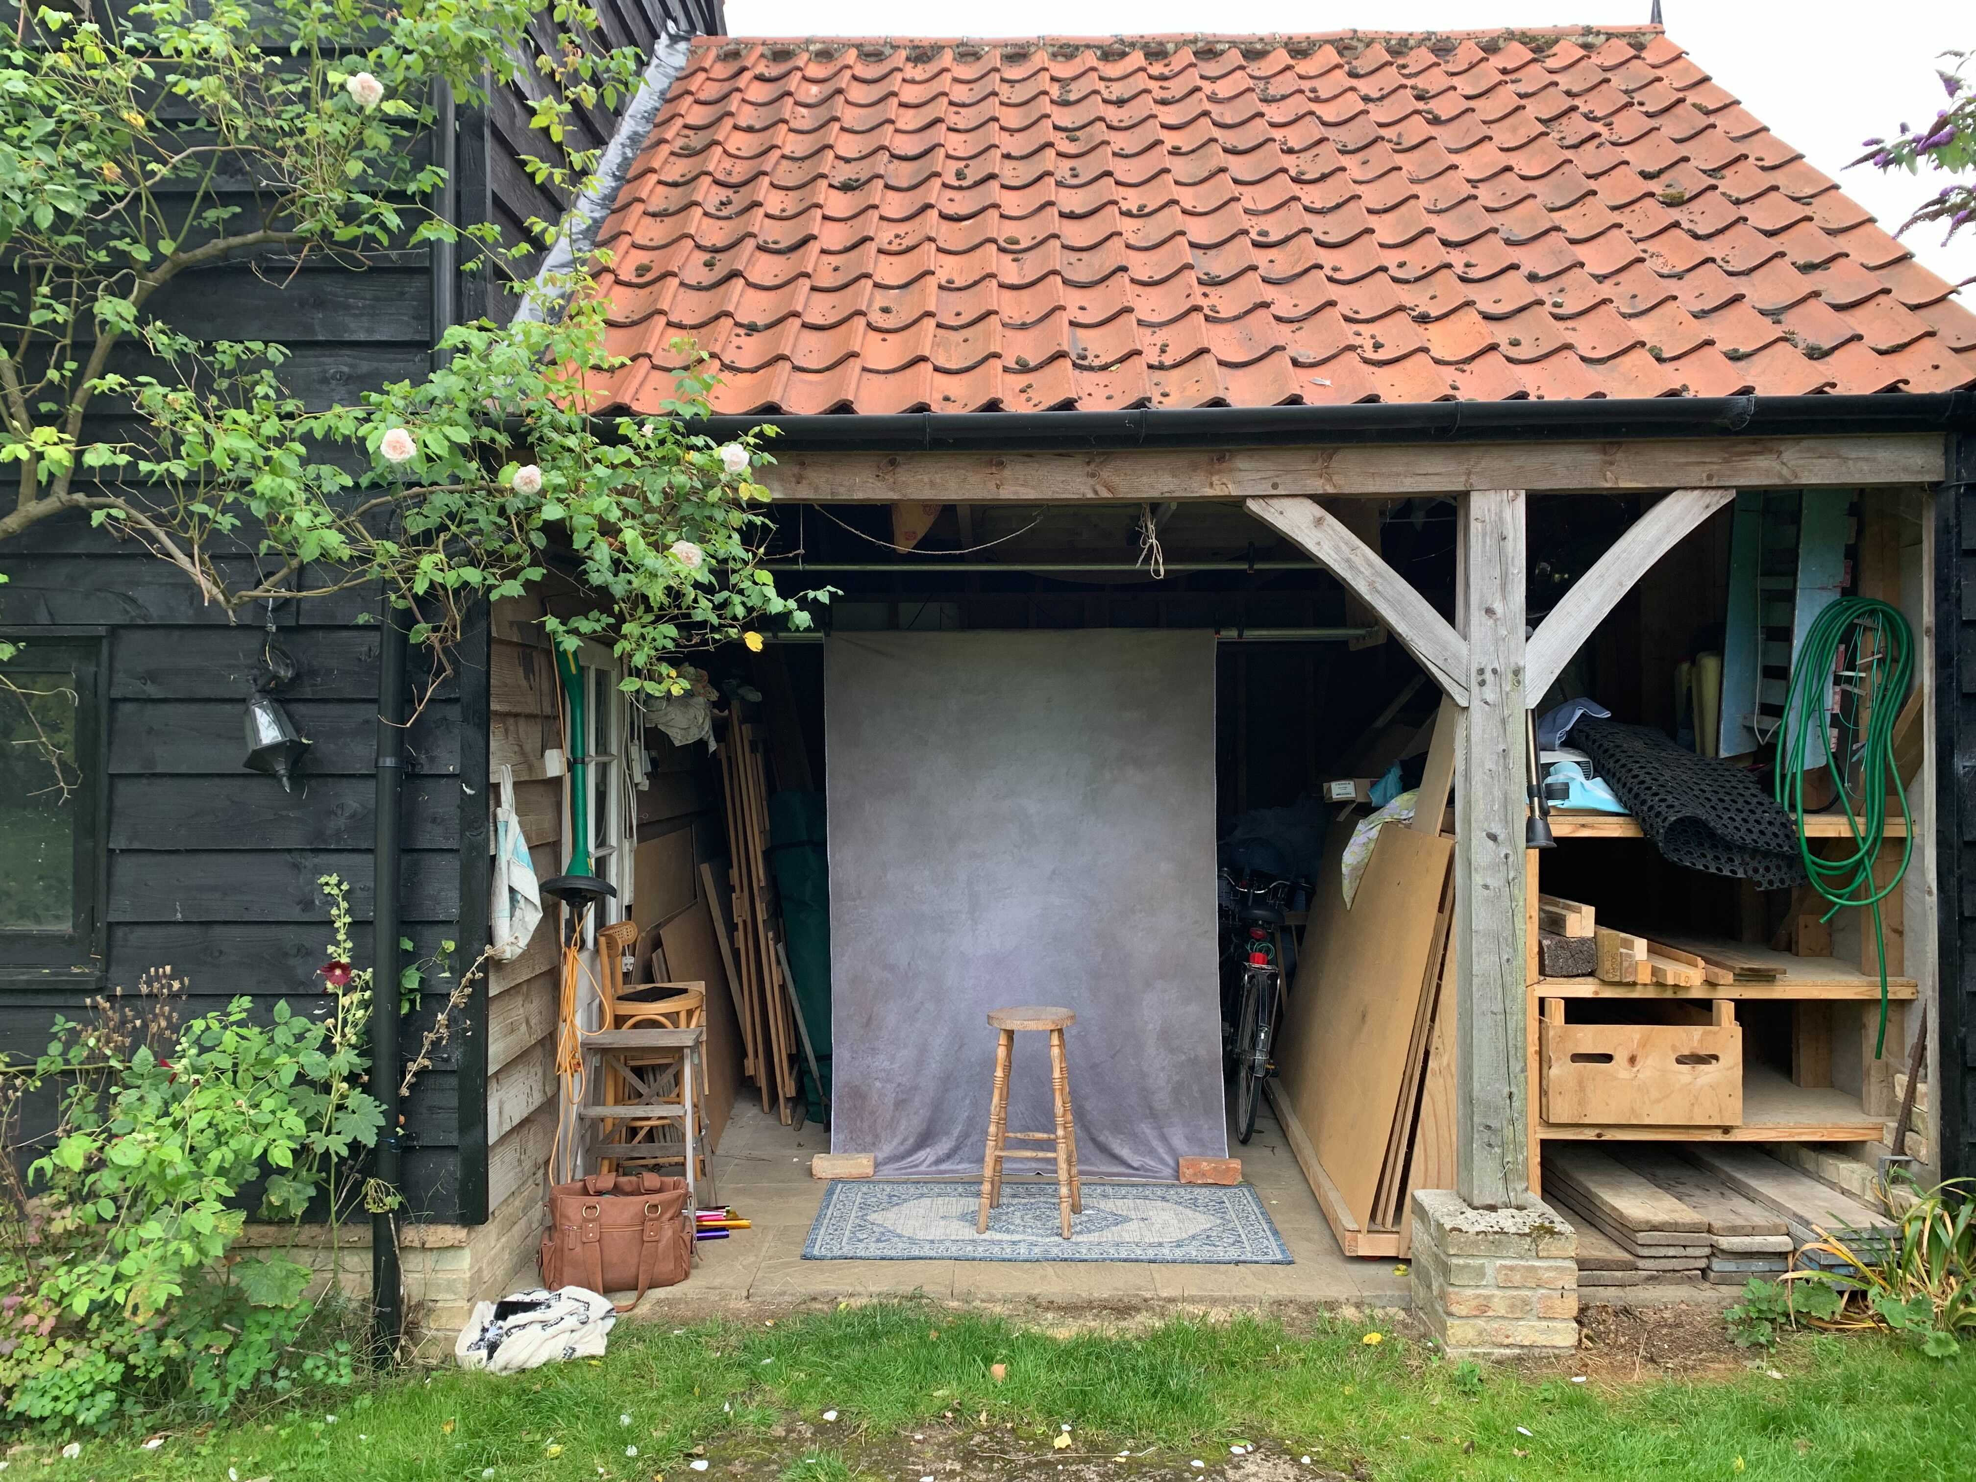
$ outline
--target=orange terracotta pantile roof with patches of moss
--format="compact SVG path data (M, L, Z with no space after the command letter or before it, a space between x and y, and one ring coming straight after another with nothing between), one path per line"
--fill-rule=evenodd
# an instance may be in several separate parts
M703 38L599 245L607 401L1940 391L1976 316L1660 28Z

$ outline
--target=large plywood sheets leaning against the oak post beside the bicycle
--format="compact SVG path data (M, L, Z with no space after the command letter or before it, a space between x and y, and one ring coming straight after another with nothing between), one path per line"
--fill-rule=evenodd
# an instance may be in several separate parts
M1332 828L1284 1006L1271 1101L1346 1255L1411 1247L1413 1190L1454 1182L1452 703L1411 822L1379 830L1352 905Z

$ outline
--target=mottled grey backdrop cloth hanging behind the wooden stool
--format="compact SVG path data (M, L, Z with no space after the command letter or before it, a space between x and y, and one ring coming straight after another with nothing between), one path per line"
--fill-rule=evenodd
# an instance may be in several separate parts
M1213 634L832 636L824 709L830 1146L980 1172L986 1014L1061 1004L1079 1172L1227 1156ZM1047 1035L1016 1035L1010 1128L1049 1128Z

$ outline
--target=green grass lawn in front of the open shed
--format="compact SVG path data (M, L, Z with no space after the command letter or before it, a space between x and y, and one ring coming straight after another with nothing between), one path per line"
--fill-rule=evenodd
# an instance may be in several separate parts
M132 1435L45 1468L55 1450L41 1442L10 1460L32 1476L160 1482L1976 1476L1976 1356L1936 1361L1877 1336L1745 1356L1719 1346L1717 1322L1695 1320L1705 1352L1670 1377L1624 1352L1630 1340L1520 1371L1446 1363L1365 1324L1053 1336L873 1304L620 1326L601 1361L500 1379L417 1371L174 1429L154 1450Z

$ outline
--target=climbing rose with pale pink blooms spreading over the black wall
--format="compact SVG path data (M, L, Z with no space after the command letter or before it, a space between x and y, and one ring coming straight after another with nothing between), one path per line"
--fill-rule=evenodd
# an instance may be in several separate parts
M573 249L571 219L502 249L492 225L462 231L427 206L445 184L427 146L441 87L474 105L528 65L532 124L557 150L577 107L613 111L636 87L642 57L601 45L587 6L557 6L553 45L524 63L512 38L535 10L144 0L26 16L0 43L0 464L18 478L0 541L81 514L255 620L269 599L377 583L415 609L413 640L441 670L478 599L518 597L563 559L589 601L547 618L551 634L607 644L640 694L684 692L686 648L808 626L759 563L759 439L688 429L707 375L684 375L668 415L591 417L617 364L595 292L607 255ZM524 164L573 200L597 160ZM200 269L253 257L281 285L443 241L528 312L449 330L433 373L348 405L304 405L279 344L180 322ZM557 243L567 271L530 277Z

